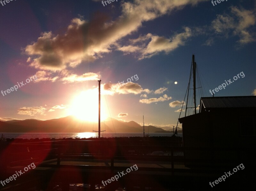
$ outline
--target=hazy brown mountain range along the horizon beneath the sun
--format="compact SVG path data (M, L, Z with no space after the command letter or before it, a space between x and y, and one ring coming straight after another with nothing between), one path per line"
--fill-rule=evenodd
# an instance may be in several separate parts
M108 118L100 123L100 129L106 133L142 133L143 126L135 121L123 122L114 118ZM50 120L11 120L0 121L0 133L78 133L98 131L98 123L81 121L73 116ZM155 126L145 126L145 133L166 132Z

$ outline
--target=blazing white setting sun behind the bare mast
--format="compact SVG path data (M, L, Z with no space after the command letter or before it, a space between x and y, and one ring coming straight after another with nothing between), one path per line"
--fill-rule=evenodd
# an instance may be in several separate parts
M81 92L71 103L70 115L91 122L99 121L99 90L89 89ZM108 116L105 102L100 98L100 121L104 121Z

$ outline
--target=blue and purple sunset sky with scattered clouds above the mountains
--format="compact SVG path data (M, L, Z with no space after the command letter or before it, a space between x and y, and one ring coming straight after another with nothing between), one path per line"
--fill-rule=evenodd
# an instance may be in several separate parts
M2 1L0 120L97 120L101 80L102 120L172 129L193 54L204 96L256 96L256 3L218 1Z

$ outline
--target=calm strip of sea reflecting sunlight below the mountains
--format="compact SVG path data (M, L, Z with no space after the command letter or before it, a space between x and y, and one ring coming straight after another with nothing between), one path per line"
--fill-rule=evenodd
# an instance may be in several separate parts
M146 135L146 133L145 133ZM143 133L101 133L101 136L110 137L143 137ZM149 133L149 137L172 136L172 133ZM182 137L182 133L178 133ZM98 137L98 133L84 132L84 133L4 133L4 138L20 138L20 139L43 139L43 138L90 138Z

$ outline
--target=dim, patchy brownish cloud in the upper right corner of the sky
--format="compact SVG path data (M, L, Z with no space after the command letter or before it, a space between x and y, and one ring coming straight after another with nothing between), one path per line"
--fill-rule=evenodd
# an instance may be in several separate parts
M252 29L256 22L255 12L234 6L231 6L230 9L230 14L217 15L217 18L212 21L212 29L215 33L225 34L226 37L229 33L233 36L239 36L238 42L240 44L256 41Z

